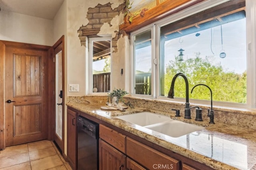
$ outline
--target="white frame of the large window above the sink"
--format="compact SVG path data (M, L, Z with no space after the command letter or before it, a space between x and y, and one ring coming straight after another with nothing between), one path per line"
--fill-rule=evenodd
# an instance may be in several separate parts
M160 27L174 23L175 21L182 20L186 17L192 16L194 14L197 14L198 12L202 12L204 10L208 10L214 6L223 4L225 2L228 2L229 0L206 0L204 2L198 3L194 6L191 6L189 8L186 8L176 14L173 14L171 16L168 16L160 21L156 21L150 25L147 25L146 27L143 27L142 29L139 29L137 31L134 31L131 33L131 39L138 33L141 33L142 30L145 28L148 28L150 26L155 27L155 33L152 38L152 41L155 43L154 46L152 46L154 49L154 53L152 56L154 56L154 59L157 59L157 64L152 67L152 70L154 71L154 74L152 74L152 80L154 79L155 81L152 82L154 84L154 91L152 94L154 94L153 97L151 98L157 98L159 100L170 100L172 102L184 102L184 98L175 98L175 99L168 99L166 96L160 96L160 79L159 79L159 59L160 59L160 49L159 49L159 44L160 44ZM256 2L253 2L253 0L245 0L246 2L246 63L247 63L247 68L246 68L246 74L247 74L247 102L246 104L240 104L240 103L232 103L232 102L217 102L213 101L213 104L215 106L229 106L229 107L242 107L242 108L256 108L256 59L255 59L255 49L256 49L256 43L255 43L255 37L256 37L256 28L255 28L255 23L256 23L256 16L255 16L255 9L256 9ZM134 58L134 41L131 41L131 54L132 54L132 59ZM154 59L152 59L152 63L154 63ZM132 71L134 72L134 63L132 62ZM134 74L132 74L134 75ZM154 75L154 76L153 76ZM134 80L134 76L132 76L132 80ZM134 83L132 83L134 84ZM190 87L191 88L191 87ZM134 89L134 87L132 87ZM209 94L210 95L210 94ZM145 98L145 95L135 95L132 94L132 96L139 96L142 98ZM204 105L209 105L208 100L195 100L195 99L190 99L190 102L193 104L204 104Z

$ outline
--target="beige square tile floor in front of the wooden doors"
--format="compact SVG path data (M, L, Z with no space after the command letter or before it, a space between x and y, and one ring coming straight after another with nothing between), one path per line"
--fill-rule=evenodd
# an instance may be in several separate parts
M52 141L26 143L0 151L0 170L72 170Z

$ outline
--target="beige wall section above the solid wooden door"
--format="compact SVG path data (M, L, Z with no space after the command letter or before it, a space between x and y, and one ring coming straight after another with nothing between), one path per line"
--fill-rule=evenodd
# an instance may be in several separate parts
M0 40L53 44L53 21L14 12L0 12Z

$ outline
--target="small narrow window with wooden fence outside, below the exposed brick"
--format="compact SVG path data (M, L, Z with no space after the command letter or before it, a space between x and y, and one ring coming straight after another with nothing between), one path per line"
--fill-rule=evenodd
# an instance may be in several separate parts
M89 93L110 92L111 38L89 38Z

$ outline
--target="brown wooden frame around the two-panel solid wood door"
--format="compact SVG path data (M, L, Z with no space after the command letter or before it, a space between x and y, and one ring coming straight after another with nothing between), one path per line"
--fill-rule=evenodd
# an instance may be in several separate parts
M53 48L46 45L35 45L35 44L28 44L28 43L18 43L18 42L12 42L12 41L2 41L0 40L0 150L5 149L5 90L4 90L4 84L5 84L5 54L6 54L6 47L19 47L24 49L38 49L38 50L44 50L48 51L48 73L47 73L47 79L48 79L48 113L46 115L46 119L48 120L48 140L52 140L52 112L53 112L53 97L52 97L52 85L50 82L52 82L54 75L52 75L52 67L51 63L53 63L52 59L52 53Z

